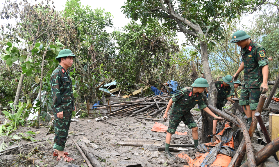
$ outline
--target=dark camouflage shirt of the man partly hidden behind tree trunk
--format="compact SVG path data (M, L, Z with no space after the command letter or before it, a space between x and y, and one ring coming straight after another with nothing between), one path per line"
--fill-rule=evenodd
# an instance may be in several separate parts
M217 106L225 106L227 103L227 97L230 97L230 86L223 86L223 81L215 81L215 86L217 88ZM233 86L233 85L232 85Z

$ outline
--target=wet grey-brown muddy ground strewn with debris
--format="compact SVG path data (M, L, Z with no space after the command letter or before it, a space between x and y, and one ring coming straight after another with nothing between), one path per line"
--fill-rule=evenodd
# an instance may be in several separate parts
M119 101L121 99L111 98L111 101ZM227 104L231 105L231 104ZM198 111L198 106L191 110L195 121L199 119L201 116L201 112ZM242 117L242 114L237 111L237 115ZM160 114L159 114L160 116ZM154 121L143 120L146 125L136 121L134 117L124 117L118 119L119 117L114 117L108 119L118 126L113 126L111 124L105 123L103 121L95 121L93 118L78 118L77 122L71 122L69 135L85 133L85 135L70 137L67 139L67 143L65 146L65 151L70 153L69 157L74 158L75 161L72 164L77 164L78 166L87 166L84 159L81 157L81 154L77 150L75 144L72 140L77 142L85 141L89 144L87 146L94 153L94 155L98 155L102 157L101 164L103 166L128 166L133 164L142 164L142 162L149 162L151 164L155 164L156 166L163 166L163 164L168 161L170 166L183 166L187 164L187 162L181 162L181 160L176 159L176 161L170 161L164 157L164 140L166 137L166 133L164 132L153 132L151 128L155 124ZM76 118L74 118L76 119ZM162 119L162 117L161 117ZM3 116L0 118L3 120ZM168 126L168 122L159 122ZM46 135L48 128L41 127L40 129L36 129L33 127L22 127L13 132L10 135L14 135L17 132L27 132L40 131L39 134L33 135L33 138L36 140L43 140L47 138L54 138L54 134ZM171 138L171 144L194 144L192 139L192 131L189 130L187 126L185 126L182 122L180 126L177 128L178 132L187 132L187 135L173 135ZM199 142L201 143L201 121L198 123L198 136ZM237 135L238 136L238 135ZM154 144L151 148L149 148L145 153L144 149L150 146L156 140L162 140L160 144ZM0 137L0 143L4 142L8 145L10 141L10 137ZM89 140L89 141L88 141ZM134 147L134 146L120 146L117 143L133 143L135 140L140 140L146 143L147 145ZM20 141L15 141L15 143L10 147L14 147L17 145L21 145L24 143L29 143L31 141L25 141L24 139L20 139ZM160 142L160 141L158 141ZM237 141L235 141L235 146L238 146ZM137 144L137 143L135 143ZM52 167L56 166L58 162L56 161L56 157L53 157L53 140L40 142L36 144L31 144L27 146L22 146L19 148L15 148L9 151L6 151L0 154L0 166L47 166ZM162 151L158 151L158 148L163 148ZM237 148L237 147L236 147ZM185 152L193 159L195 158L196 149L193 148L180 148L184 149L180 152L172 152L175 155ZM187 149L187 150L185 150ZM147 156L148 155L148 156ZM151 156L150 156L151 155ZM151 157L151 158L150 158Z

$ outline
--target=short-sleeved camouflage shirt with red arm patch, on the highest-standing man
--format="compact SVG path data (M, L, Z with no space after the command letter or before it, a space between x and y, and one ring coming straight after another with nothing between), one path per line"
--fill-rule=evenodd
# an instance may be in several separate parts
M249 48L242 48L240 53L244 62L245 88L260 88L263 82L262 67L268 64L265 49L251 40Z

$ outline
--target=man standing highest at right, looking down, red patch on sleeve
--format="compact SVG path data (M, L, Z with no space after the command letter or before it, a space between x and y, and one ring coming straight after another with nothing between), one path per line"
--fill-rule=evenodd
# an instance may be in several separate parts
M239 105L243 106L248 118L247 128L250 128L252 116L255 114L260 95L266 93L268 77L268 61L265 49L249 39L245 31L237 31L232 35L231 43L241 47L241 61L233 80L237 80L239 73L244 70L244 85L242 86Z

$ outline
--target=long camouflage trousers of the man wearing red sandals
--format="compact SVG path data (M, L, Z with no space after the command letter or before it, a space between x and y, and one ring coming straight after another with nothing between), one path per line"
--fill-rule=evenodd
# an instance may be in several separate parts
M54 114L54 146L53 148L63 151L67 141L68 131L71 124L72 111L63 112L63 118L57 117Z

